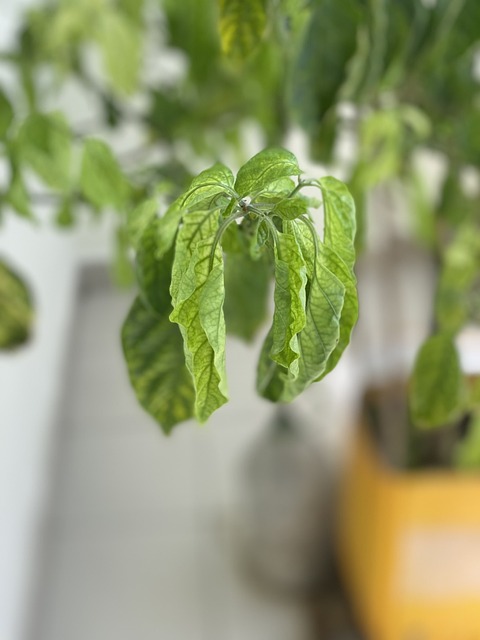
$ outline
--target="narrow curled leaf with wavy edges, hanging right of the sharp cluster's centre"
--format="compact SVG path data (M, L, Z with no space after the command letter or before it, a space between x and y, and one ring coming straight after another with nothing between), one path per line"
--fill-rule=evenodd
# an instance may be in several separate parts
M298 375L298 334L305 327L306 265L295 236L278 233L275 242L275 310L270 357Z

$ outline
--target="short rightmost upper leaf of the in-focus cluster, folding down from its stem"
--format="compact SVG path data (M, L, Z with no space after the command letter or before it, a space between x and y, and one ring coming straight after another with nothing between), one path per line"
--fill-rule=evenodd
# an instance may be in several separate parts
M347 187L336 178L318 181L325 214L324 242L352 270L355 263L355 203Z

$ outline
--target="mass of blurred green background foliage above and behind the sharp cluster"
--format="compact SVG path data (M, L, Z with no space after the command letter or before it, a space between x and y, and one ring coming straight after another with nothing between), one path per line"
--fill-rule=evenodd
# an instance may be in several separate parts
M161 66L172 54L183 71L149 78L146 60ZM228 150L241 164L249 123L268 145L299 125L322 162L335 163L345 131L356 140L349 185L357 248L371 190L404 186L413 233L439 267L433 333L453 339L478 322L478 0L47 0L25 14L0 56L18 79L16 91L0 87L8 168L0 213L35 217L32 172L56 202L61 227L76 223L79 205L94 215L115 210L120 281L130 281L127 217L139 203L173 200L199 158L214 161ZM100 108L86 131L75 113L45 106L72 81ZM131 122L143 137L138 162L102 136ZM167 160L152 159L155 149ZM446 167L434 198L417 170L421 150L440 154ZM476 188L467 189L472 171Z

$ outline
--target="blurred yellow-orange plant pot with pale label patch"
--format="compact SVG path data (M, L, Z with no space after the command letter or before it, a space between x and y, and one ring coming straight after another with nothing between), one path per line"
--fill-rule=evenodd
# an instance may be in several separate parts
M393 470L362 427L337 545L368 640L480 640L480 475Z

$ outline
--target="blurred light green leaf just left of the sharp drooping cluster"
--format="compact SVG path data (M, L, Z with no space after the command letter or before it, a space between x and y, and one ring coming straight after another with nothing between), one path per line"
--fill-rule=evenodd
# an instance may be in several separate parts
M129 196L129 185L110 148L101 140L85 140L80 185L93 206L109 205L122 209Z

